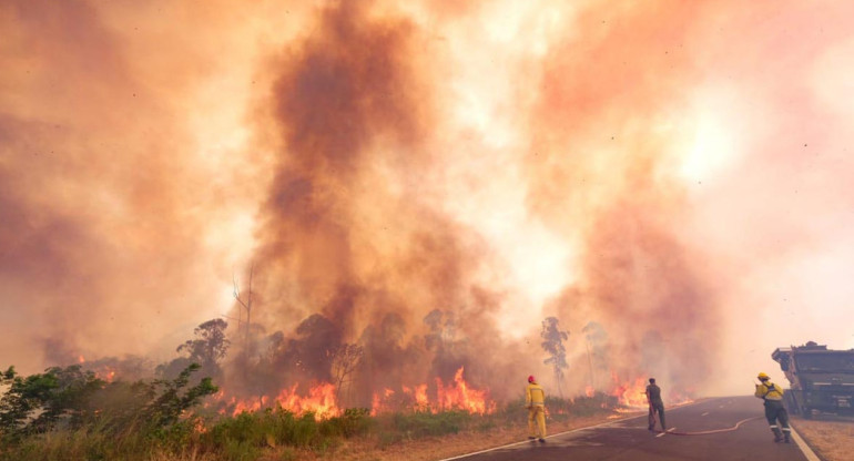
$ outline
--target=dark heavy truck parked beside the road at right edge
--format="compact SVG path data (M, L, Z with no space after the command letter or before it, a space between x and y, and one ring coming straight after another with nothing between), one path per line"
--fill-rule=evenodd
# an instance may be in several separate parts
M792 414L854 414L854 349L831 350L809 341L780 347L771 354L791 385L783 403Z

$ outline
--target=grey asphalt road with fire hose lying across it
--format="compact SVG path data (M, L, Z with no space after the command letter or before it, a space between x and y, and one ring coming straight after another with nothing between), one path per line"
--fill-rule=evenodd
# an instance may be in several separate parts
M546 443L520 442L470 455L462 461L510 460L773 460L810 461L803 441L774 443L762 401L725 397L668 408L664 417L672 432L650 432L647 416L579 429L546 439ZM760 418L758 418L760 417ZM659 427L660 429L660 427ZM705 433L697 433L705 432ZM711 433L709 433L711 432ZM809 451L809 448L806 448ZM449 459L450 460L450 459Z

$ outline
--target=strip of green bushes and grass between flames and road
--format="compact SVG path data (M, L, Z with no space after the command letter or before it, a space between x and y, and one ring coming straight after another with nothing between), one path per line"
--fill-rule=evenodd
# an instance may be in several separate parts
M0 460L250 461L338 459L358 447L393 450L411 441L460 433L518 431L527 420L521 401L491 414L403 411L370 416L367 409L319 419L282 408L221 416L205 409L217 391L210 378L193 379L193 363L177 378L105 382L80 366L44 373L2 372ZM549 399L550 421L601 414L611 398ZM521 434L521 433L520 433ZM372 457L365 458L372 459ZM373 457L373 459L378 459Z

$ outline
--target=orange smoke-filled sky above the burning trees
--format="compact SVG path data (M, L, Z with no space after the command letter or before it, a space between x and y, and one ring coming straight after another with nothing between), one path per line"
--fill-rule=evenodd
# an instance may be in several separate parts
M854 6L398 3L2 2L0 367L169 360L250 267L268 332L439 309L492 388L548 316L578 386L591 321L705 393L854 347Z

